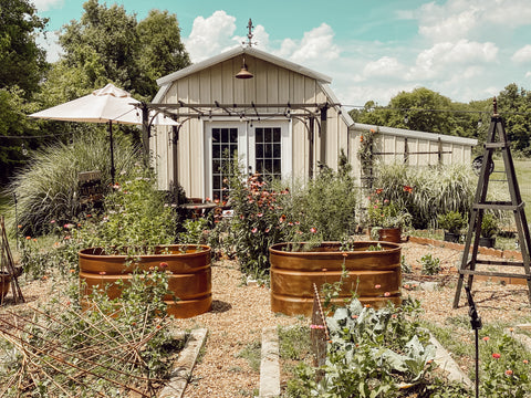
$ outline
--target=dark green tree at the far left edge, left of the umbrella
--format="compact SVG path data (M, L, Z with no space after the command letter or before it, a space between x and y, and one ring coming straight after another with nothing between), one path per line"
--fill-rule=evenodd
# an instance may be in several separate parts
M28 0L0 2L0 182L14 168L24 164L22 144L34 142L15 139L35 134L25 112L33 107L32 98L39 90L48 63L45 51L35 43L46 20L37 15Z

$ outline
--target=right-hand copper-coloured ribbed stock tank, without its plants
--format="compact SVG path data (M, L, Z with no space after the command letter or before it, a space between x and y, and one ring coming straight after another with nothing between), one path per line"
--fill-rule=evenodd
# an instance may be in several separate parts
M369 247L382 250L369 250ZM303 243L304 244L304 243ZM271 262L271 311L287 315L311 315L313 283L321 290L323 283L340 280L343 262L348 271L337 303L357 292L363 304L375 307L387 301L402 303L399 244L391 242L354 242L354 250L341 251L339 242L324 242L304 251L291 251L292 243L273 244Z

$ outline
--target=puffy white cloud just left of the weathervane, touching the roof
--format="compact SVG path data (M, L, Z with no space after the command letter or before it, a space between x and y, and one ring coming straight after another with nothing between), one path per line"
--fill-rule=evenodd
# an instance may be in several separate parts
M235 21L225 11L216 11L206 19L197 17L190 35L184 40L191 61L199 62L238 45Z

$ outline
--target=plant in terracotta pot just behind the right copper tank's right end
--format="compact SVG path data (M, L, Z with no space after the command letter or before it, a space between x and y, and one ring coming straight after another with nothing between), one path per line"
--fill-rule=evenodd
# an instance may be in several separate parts
M371 235L381 241L400 242L402 231L412 223L412 214L397 203L376 195L369 198L367 217Z

